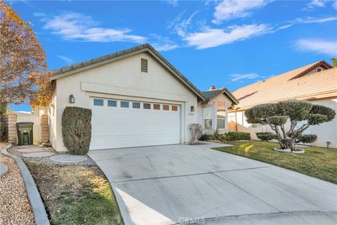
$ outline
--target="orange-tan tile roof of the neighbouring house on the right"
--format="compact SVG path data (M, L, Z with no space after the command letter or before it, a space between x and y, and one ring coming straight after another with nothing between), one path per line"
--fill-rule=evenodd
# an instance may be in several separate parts
M319 94L335 93L337 95L337 68L330 68L293 79L322 62L324 61L312 63L303 68L291 70L282 75L237 89L233 92L239 100L237 106L249 108L261 103L284 101L292 98L309 99Z

